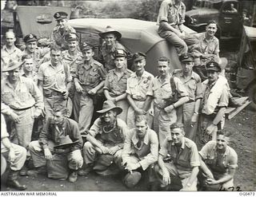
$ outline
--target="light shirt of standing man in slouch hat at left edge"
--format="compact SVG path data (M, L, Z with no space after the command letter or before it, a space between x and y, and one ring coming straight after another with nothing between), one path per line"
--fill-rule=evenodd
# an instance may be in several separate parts
M8 78L1 83L1 99L13 109L26 109L32 106L43 109L42 93L29 78L20 77L14 89Z

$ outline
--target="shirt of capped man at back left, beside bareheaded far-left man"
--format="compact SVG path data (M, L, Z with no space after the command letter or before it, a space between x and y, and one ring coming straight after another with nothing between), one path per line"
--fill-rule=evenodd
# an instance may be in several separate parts
M22 51L23 55L30 55L33 58L34 61L34 72L38 73L38 69L42 63L46 61L50 61L50 48L36 48L34 50L34 53L30 53L27 49Z

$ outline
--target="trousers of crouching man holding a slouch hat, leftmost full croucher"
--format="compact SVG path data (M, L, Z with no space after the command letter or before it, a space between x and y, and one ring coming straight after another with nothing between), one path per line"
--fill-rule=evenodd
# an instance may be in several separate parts
M54 154L54 144L53 141L48 141L48 147L50 152ZM30 142L30 154L33 160L34 167L46 166L46 158L44 156L44 150L39 144L38 140ZM81 150L74 150L73 152L67 153L67 160L69 163L69 168L72 170L78 170L79 167L82 167L83 159Z

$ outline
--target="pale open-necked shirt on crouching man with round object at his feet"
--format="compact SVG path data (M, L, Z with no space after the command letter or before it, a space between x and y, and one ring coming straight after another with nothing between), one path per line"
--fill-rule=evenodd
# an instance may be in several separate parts
M138 147L138 136L136 129L131 129L126 137L125 145L122 151L122 160L129 162L130 156L137 157L142 169L154 164L158 160L158 135L152 129L148 128L143 139L143 143Z

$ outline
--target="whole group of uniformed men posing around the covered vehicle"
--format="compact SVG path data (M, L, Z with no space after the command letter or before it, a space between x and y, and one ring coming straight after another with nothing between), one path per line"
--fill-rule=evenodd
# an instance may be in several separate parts
M110 26L99 34L98 61L89 41L78 45L64 12L54 14L58 26L50 48L39 49L30 33L20 51L8 31L1 61L1 153L10 161L7 186L26 189L18 173L48 171L50 176L49 166L60 156L71 183L96 171L123 175L127 187L148 175L150 188L161 191L175 185L197 191L198 180L201 189L233 187L238 156L228 146L227 133L218 132L231 96L221 75L217 24L210 21L205 33L190 37L182 28L185 10L180 0L162 2L159 35L177 47L182 69L171 73L170 59L159 57L157 77L146 71L146 54L130 57L118 42L122 33ZM133 71L127 69L130 58ZM98 106L102 109L93 121ZM31 160L34 168L28 169Z

